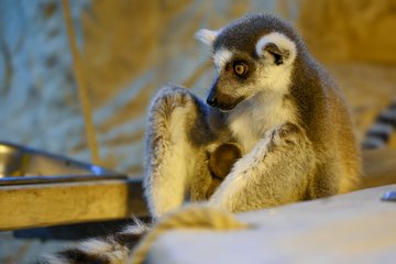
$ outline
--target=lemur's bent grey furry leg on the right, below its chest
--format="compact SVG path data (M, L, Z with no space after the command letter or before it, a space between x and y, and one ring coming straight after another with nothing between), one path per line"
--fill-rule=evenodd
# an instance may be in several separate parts
M221 183L209 205L246 211L305 198L316 157L304 129L286 123L270 132Z

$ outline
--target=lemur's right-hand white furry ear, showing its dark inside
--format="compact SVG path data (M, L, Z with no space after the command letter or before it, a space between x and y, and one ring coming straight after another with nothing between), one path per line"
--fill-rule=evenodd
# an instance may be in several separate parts
M296 58L296 44L280 33L270 33L257 41L256 53L275 65L289 65Z

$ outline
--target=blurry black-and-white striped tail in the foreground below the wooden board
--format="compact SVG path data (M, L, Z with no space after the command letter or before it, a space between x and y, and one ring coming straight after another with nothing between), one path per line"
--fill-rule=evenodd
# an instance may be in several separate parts
M123 231L103 239L89 239L77 248L42 256L35 264L123 264L132 248L150 227L139 220Z

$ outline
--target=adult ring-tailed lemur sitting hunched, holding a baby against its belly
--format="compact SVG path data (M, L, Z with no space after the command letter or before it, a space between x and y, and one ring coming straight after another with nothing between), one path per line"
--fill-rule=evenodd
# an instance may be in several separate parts
M242 156L210 196L213 208L254 210L356 186L360 153L341 91L290 24L252 14L197 36L212 47L217 69L207 103L165 87L148 111L144 188L154 218L186 197L206 199L210 153L223 143L237 143ZM56 260L123 263L128 246L118 241L86 243Z

